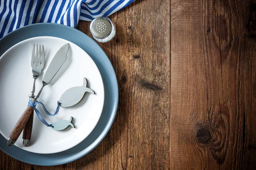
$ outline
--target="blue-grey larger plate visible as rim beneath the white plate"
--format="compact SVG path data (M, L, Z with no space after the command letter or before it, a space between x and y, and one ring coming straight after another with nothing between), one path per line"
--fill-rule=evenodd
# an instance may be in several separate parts
M63 38L84 49L96 63L102 74L104 88L107 92L105 101L108 101L104 103L103 116L101 116L92 133L83 142L60 153L38 154L22 150L16 146L8 147L6 145L6 139L0 134L0 150L9 156L29 164L52 166L66 164L81 158L93 150L104 139L116 116L119 88L113 66L102 48L83 32L69 26L56 23L36 23L12 31L0 39L0 56L20 41L41 36ZM108 100L106 100L106 97L108 97Z

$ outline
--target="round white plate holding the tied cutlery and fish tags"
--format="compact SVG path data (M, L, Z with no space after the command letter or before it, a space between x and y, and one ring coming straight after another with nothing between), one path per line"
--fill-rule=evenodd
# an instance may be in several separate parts
M31 145L23 147L22 134L15 142L17 147L30 152L57 153L79 144L96 126L104 105L104 85L93 60L72 42L56 37L35 37L17 43L0 57L0 133L6 139L27 107L33 80L30 61L34 43L44 45L45 51L45 66L36 81L36 92L55 53L65 43L70 44L66 62L38 99L50 113L55 112L61 94L68 88L81 86L83 77L87 78L87 87L95 91L95 94L86 93L77 105L60 107L55 116L48 116L41 105L37 105L48 123L52 124L60 119L69 120L72 116L75 128L69 126L62 131L52 130L35 113Z

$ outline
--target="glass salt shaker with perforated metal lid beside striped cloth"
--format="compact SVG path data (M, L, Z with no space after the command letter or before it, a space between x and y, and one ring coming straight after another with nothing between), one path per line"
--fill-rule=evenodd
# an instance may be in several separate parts
M90 33L98 42L109 42L116 35L113 22L107 17L97 17L90 23Z

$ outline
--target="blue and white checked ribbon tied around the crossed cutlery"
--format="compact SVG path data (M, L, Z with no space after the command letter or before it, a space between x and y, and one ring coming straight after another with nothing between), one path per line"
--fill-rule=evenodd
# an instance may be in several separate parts
M60 102L57 103L58 106L57 106L56 111L55 111L54 114L49 113L49 112L47 111L47 109L45 108L45 106L44 106L44 104L43 104L42 102L32 102L31 100L29 100L29 103L28 103L28 106L31 106L32 108L34 108L36 114L38 115L39 119L44 123L44 125L53 127L52 124L47 123L47 122L42 118L42 116L41 116L40 112L38 111L38 109L35 108L37 104L41 104L41 105L43 106L43 108L44 108L45 113L47 113L49 116L54 116L54 115L56 115L56 114L58 113L58 111L59 111L59 109L60 109Z

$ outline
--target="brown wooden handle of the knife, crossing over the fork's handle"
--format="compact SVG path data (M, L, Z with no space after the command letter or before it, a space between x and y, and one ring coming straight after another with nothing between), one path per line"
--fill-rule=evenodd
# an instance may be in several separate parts
M28 122L29 117L30 117L31 113L33 112L33 110L34 110L34 108L32 108L31 106L28 106L26 108L24 113L20 116L20 119L16 123L15 127L13 128L11 134L9 135L10 139L15 140L15 141L18 139L18 137L20 136L20 133L22 132L26 123Z

